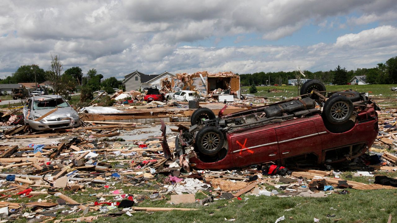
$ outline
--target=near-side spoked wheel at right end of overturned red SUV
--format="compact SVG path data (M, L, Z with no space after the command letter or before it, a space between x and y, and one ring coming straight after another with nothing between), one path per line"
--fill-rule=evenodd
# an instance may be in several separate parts
M353 114L353 102L343 95L331 96L324 105L323 115L328 122L341 125Z

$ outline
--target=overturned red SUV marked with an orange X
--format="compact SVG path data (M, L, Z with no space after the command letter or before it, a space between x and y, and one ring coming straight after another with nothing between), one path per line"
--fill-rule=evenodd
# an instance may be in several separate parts
M175 155L180 162L213 170L268 161L330 164L361 156L378 135L379 108L365 93L327 92L316 80L304 83L301 96L290 100L228 115L222 115L224 109L216 117L199 108L191 127L179 127ZM162 132L164 154L170 157L165 125Z

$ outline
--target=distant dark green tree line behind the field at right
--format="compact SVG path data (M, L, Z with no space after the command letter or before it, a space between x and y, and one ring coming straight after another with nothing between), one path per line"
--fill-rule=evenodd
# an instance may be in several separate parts
M240 75L243 86L258 85L288 85L289 79L295 79L296 71L257 72ZM390 58L385 63L378 63L374 68L357 68L347 71L338 65L329 71L304 71L305 79L316 79L323 83L346 85L354 76L366 75L368 84L396 84L397 83L397 56Z

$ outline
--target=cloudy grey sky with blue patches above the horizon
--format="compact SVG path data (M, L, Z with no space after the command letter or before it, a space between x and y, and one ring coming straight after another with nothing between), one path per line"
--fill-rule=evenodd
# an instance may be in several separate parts
M395 0L1 0L0 78L20 65L105 78L375 67L397 56Z

